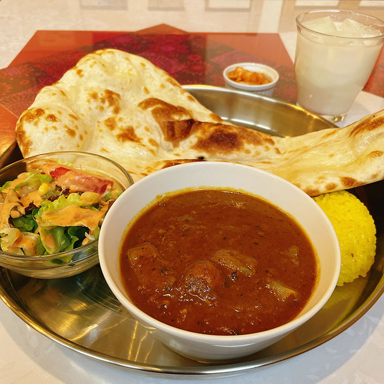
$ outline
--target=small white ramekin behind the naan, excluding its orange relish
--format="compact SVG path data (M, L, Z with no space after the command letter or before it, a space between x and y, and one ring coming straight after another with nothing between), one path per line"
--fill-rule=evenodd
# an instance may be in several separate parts
M228 77L228 73L233 71L236 67L242 67L251 72L264 73L265 76L272 81L268 84L261 84L260 86L233 81ZM279 73L273 68L268 67L264 64L259 64L255 62L238 62L225 68L225 70L223 71L223 77L225 81L225 86L227 88L236 88L241 89L243 91L257 92L262 95L272 96L274 87L279 80Z

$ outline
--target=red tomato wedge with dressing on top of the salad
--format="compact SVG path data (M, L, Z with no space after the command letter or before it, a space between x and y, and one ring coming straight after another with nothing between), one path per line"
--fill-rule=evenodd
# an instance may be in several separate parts
M62 188L69 188L71 192L91 191L102 195L113 187L113 180L108 177L83 172L68 165L46 163L43 172L51 175Z

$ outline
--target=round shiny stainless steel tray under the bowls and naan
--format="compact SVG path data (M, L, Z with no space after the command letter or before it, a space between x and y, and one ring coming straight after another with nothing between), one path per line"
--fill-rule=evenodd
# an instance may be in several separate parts
M333 125L281 100L217 87L186 86L191 94L225 119L281 136ZM7 158L4 158L7 156ZM15 148L0 159L20 156ZM124 370L147 375L238 374L304 353L343 332L384 291L382 231L384 184L354 192L369 207L377 227L377 254L367 278L336 287L330 300L309 322L271 347L225 364L201 364L181 357L156 340L120 305L99 266L66 279L38 280L0 268L0 297L25 323L78 353Z

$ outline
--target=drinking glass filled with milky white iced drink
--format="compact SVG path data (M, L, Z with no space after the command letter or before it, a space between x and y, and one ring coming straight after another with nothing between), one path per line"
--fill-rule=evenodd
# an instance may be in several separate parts
M365 86L384 41L384 22L346 10L296 17L297 104L330 121L343 120Z

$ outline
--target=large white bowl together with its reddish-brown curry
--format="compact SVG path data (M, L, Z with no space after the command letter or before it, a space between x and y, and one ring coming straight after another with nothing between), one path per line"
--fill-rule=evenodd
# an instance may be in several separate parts
M301 189L227 162L169 167L107 213L112 292L170 349L199 361L257 352L313 316L338 278L336 234Z

